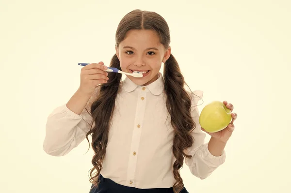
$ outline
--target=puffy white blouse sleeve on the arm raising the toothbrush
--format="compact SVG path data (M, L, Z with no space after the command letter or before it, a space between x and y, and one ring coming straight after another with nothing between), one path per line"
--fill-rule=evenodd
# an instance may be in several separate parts
M94 97L95 95L86 104L89 111ZM86 138L91 120L92 117L85 108L80 115L72 112L66 104L55 108L47 119L44 151L52 156L66 155Z

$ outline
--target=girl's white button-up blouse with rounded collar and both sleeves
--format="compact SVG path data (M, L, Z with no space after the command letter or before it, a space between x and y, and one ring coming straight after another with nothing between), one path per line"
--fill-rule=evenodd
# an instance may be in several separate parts
M155 82L147 86L136 85L127 77L121 81L102 164L101 175L104 178L143 189L174 185L174 133L170 117L167 119L163 81L161 73ZM193 93L201 98L203 96L201 90ZM194 94L194 143L186 151L192 158L184 158L184 163L194 176L204 179L225 162L226 153L224 150L221 156L213 156L209 152L208 143L204 142L206 134L201 131L198 121L198 108L194 106L200 98ZM89 100L89 103L92 101ZM44 151L52 156L66 155L85 139L91 120L85 109L78 115L65 104L55 108L47 120Z

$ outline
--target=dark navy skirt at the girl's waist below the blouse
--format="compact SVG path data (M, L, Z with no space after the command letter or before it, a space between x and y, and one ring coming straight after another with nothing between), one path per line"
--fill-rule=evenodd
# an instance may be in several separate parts
M90 193L174 193L173 188L151 188L151 189L139 189L134 187L123 186L115 183L109 178L103 178L100 174L100 183L98 187L92 189ZM184 187L180 193L188 193Z

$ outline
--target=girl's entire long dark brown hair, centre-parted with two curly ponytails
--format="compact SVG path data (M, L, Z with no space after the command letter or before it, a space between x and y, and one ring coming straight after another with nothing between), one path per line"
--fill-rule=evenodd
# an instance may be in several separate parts
M154 30L158 33L160 42L165 48L168 48L170 45L170 30L168 24L161 15L155 12L133 10L125 15L116 30L115 41L117 47L120 42L125 39L126 33L133 29ZM110 62L110 67L120 69L119 59L116 54ZM98 96L91 105L91 111L89 112L86 109L92 116L91 129L86 134L86 139L89 142L88 135L92 136L91 146L95 152L92 159L94 167L90 171L90 182L94 184L93 187L98 186L99 183L99 174L106 153L115 98L119 91L122 75L118 73L109 73L108 77L109 81L99 86ZM187 84L181 74L178 62L172 54L164 63L163 77L164 91L167 96L166 107L171 118L171 125L175 132L173 139L173 154L176 161L173 164L173 173L176 182L173 186L173 191L174 193L179 193L183 189L184 184L178 170L183 166L183 156L191 158L191 155L185 154L184 150L191 147L194 142L194 138L190 132L196 127L196 124L191 117L192 97L184 89L184 86ZM94 127L93 121L95 123ZM96 171L94 172L94 170Z

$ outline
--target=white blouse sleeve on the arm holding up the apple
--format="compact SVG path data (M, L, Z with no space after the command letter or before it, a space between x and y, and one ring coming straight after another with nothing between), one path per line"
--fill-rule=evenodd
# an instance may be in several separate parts
M200 98L202 98L203 91L195 90L193 93L195 95L192 96L192 118L196 123L196 128L192 132L194 143L192 147L185 151L188 155L192 155L192 158L185 158L185 163L194 176L205 179L209 177L218 166L225 162L226 152L224 150L221 156L214 156L208 150L208 143L205 143L206 133L201 130L199 124L199 111L195 106Z

